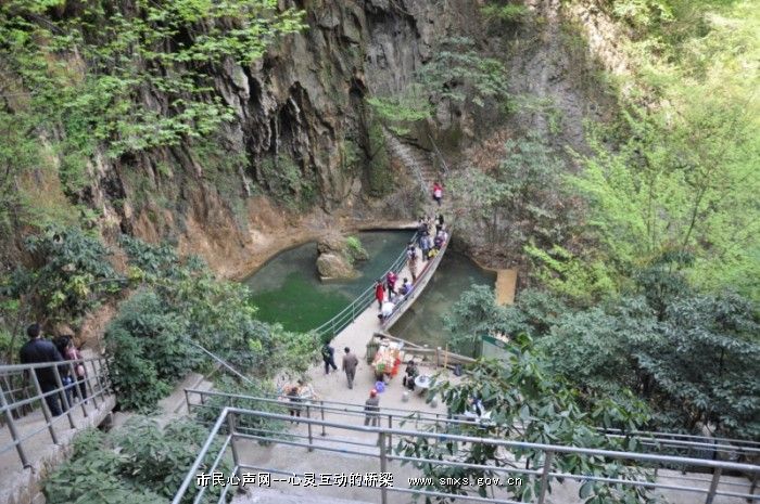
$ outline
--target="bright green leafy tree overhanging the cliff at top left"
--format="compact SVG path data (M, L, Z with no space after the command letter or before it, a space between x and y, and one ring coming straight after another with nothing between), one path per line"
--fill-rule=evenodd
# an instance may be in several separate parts
M214 132L232 118L214 91L215 70L250 64L304 28L301 12L275 0L61 7L4 2L0 40L21 88L34 90L30 109L63 126L69 175L94 153L92 139L118 156Z

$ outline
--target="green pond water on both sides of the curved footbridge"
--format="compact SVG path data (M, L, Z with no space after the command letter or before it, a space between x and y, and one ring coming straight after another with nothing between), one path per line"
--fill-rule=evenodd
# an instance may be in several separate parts
M315 267L317 246L312 242L278 254L244 282L262 320L280 322L289 331L308 331L332 318L371 285L404 250L411 235L407 231L358 233L369 260L358 264L360 275L356 279L320 282ZM443 327L443 315L464 290L476 284L493 286L495 277L449 249L422 295L391 333L419 345L445 348L451 335ZM472 348L449 350L473 353Z

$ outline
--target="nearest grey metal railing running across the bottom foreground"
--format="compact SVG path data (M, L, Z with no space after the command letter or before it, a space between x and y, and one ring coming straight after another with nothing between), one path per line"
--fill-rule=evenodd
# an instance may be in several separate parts
M261 421L265 422L293 422L299 426L305 426L308 432L307 437L294 437L291 434L280 434L280 437L270 436L263 434L261 431L254 431L254 434L246 432L245 430L239 428L241 424L245 424L251 419L255 419L258 423ZM238 488L240 482L245 484L245 481L251 482L251 476L257 476L251 471L258 471L261 475L264 471L267 475L287 475L288 477L305 478L306 474L296 474L293 470L288 470L287 467L278 468L267 467L257 465L249 460L246 460L245 445L251 445L251 442L265 442L269 445L276 444L276 451L281 452L282 450L290 450L293 448L305 448L307 451L319 451L322 453L340 453L340 454L351 454L356 457L377 461L377 468L379 474L388 475L393 474L393 470L400 471L401 464L410 464L405 466L403 470L404 475L418 476L418 470L422 464L430 464L438 467L441 470L441 475L451 474L448 470L451 468L469 468L483 471L484 475L490 476L501 476L512 478L517 476L518 478L528 477L532 481L535 488L534 499L531 502L539 504L544 504L546 494L549 489L549 483L554 480L561 482L565 480L574 481L579 484L587 484L592 482L593 484L611 486L615 489L621 488L646 488L650 490L667 490L676 491L680 493L691 494L694 500L692 502L704 502L706 504L712 504L717 496L731 496L731 497L742 497L746 499L748 502L760 501L760 495L755 495L752 489L748 491L742 491L734 489L737 483L721 481L721 476L727 473L737 473L742 475L747 475L751 478L757 478L760 474L760 466L750 464L738 464L733 462L723 461L711 461L711 460L696 460L696 458L684 458L677 456L669 455L658 455L650 453L635 453L628 451L613 451L613 450L598 450L588 449L581 447L566 447L558 444L542 444L542 443L530 443L520 441L509 441L504 439L494 438L482 438L473 436L460 436L453 434L441 434L441 432L430 432L420 430L407 430L401 428L392 427L380 427L373 423L373 426L357 426L350 425L345 422L328 422L321 418L309 418L309 417L296 417L288 416L278 413L245 410L240 408L229 408L226 406L221 410L219 416L217 417L211 434L201 449L200 453L189 473L187 474L182 484L180 486L177 494L172 501L173 504L180 504L191 486L194 484L198 488L198 494L195 495L194 503L208 502L204 500L205 491L208 488L203 481L207 482L211 479L211 475L217 473L220 467L220 463L226 458L226 455L231 452L232 458L232 469L229 477L230 481L237 481L237 484L230 482L230 484L225 484L218 500L216 502L226 502L227 494ZM355 445L360 445L360 448L353 448L349 445L342 447L331 447L327 443L319 441L319 438L313 436L313 431L319 428L330 428L334 430L342 430L355 434L362 434L362 439L368 442L354 442ZM224 436L224 442L221 448L216 452L210 452L211 447L218 437ZM408 456L403 454L398 449L393 450L393 439L404 439L410 442L417 443L439 443L449 447L460 447L464 443L468 443L468 448L474 449L474 447L481 447L484 450L495 451L497 453L504 454L499 455L503 465L482 465L482 464L471 464L465 463L458 458L457 453L453 453L451 456L442 458L426 458L420 455ZM507 454L511 453L522 453L520 457L510 460ZM533 461L537 461L537 465L530 468L524 467L521 463L528 455L532 455ZM688 464L692 467L699 467L704 471L712 473L709 478L709 487L701 488L695 486L694 482L686 479L686 483L675 484L672 482L659 482L651 479L651 475L642 475L635 479L626 479L618 476L615 471L610 475L601 474L583 474L583 473L569 473L562 469L561 457L572 455L577 457L594 457L598 461L607 462L619 462L625 465L650 467L653 465L674 465L674 464ZM228 457L227 457L228 458ZM200 471L201 466L204 465L205 461L214 460L211 465L204 466L204 471ZM511 462L510 462L511 461ZM509 462L509 463L507 463ZM356 461L358 463L358 460ZM314 466L319 467L324 465L324 460L320 461L315 458ZM207 467L207 468L205 468ZM377 473L375 473L377 474ZM313 475L313 474L312 474ZM313 475L314 476L314 475ZM501 503L501 504L517 504L516 501L509 500L508 494L503 492L503 488L497 489L499 491L498 499L492 493L492 496L478 496L478 488L471 489L472 493L468 495L447 493L445 491L433 491L426 487L414 487L403 484L402 481L395 480L393 482L400 483L398 486L385 484L385 486L369 486L368 491L378 491L380 493L380 502L387 504L389 501L389 495L393 492L406 494L411 496L422 496L432 499L452 499L457 502L473 501L473 502L489 502L489 503ZM199 484L200 483L200 484ZM732 487L732 489L729 489ZM740 486L740 488L749 488L749 484ZM491 489L493 492L493 488Z

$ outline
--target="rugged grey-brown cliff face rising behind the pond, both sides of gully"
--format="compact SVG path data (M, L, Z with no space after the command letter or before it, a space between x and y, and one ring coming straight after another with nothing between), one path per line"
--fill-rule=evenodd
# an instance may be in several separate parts
M100 210L106 238L128 232L169 240L227 276L328 228L407 220L418 209L418 181L393 160L364 99L402 90L436 42L452 36L469 36L499 56L510 89L550 103L559 120L553 125L530 107L503 124L489 111L463 111L457 125L429 125L464 133L441 144L446 155L461 160L473 145L487 154L482 145L531 128L582 148L582 119L600 114L604 96L590 92L594 82L579 72L579 61L591 57L565 29L571 11L558 0L530 0L532 21L489 30L478 15L483 3L296 2L308 29L251 67L228 62L216 69L216 91L235 115L216 137L116 160L96 156L91 184L74 198ZM577 20L591 12L573 5Z

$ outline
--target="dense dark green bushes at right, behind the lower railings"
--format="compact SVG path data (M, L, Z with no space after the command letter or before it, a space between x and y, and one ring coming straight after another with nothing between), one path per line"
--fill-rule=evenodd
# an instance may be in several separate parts
M760 319L751 302L699 294L662 263L643 272L638 287L590 308L536 290L496 307L476 287L446 322L470 341L494 333L535 338L547 369L578 387L586 406L605 398L624 404L633 391L649 403L651 428L757 438Z

